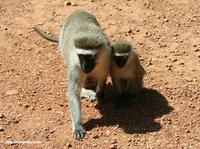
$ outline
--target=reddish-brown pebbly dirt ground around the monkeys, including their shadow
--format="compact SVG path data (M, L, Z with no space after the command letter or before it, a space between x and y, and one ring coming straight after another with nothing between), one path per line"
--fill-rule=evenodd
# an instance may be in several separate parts
M71 135L57 44L32 29L58 35L77 9L91 11L111 41L132 42L147 71L138 103L113 111L108 102L101 115L82 100L81 141ZM1 0L0 148L14 147L200 148L199 0Z

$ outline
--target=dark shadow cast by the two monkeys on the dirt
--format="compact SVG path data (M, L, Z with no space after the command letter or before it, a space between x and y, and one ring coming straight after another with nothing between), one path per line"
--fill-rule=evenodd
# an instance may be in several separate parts
M112 88L109 90L110 93L116 92ZM117 125L117 127L122 128L128 134L156 132L161 129L161 125L156 121L156 118L168 114L173 110L168 105L167 99L153 89L144 88L139 101L119 109L113 108L114 94L108 94L107 98L108 100L103 110L100 111L102 117L86 122L84 126L87 130L91 130L97 126Z

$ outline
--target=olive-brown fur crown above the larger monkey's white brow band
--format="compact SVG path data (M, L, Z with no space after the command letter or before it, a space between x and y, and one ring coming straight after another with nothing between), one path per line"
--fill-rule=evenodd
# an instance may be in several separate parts
M74 40L76 48L80 49L99 49L103 46L100 38L98 37L77 37Z

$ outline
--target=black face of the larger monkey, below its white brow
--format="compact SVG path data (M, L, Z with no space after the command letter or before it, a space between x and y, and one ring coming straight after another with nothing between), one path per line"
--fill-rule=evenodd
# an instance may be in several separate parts
M85 73L90 73L96 66L96 55L93 54L78 54L81 69Z

